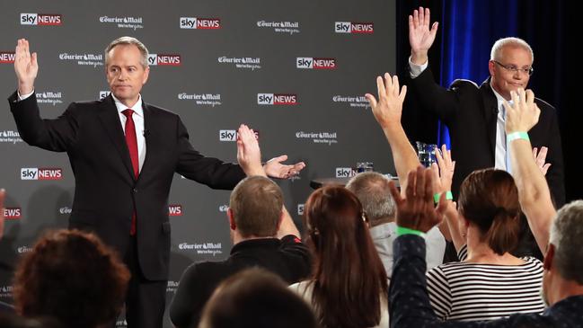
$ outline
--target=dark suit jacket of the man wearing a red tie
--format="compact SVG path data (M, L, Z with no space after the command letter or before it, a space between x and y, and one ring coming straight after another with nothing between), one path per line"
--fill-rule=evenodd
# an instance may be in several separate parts
M111 96L73 102L55 120L41 120L36 95L8 99L18 131L29 145L66 152L75 174L71 228L94 231L126 253L134 210L137 256L146 279L168 279L168 194L174 173L214 189L232 189L244 177L239 165L200 155L178 115L143 102L146 160L137 180L119 114Z

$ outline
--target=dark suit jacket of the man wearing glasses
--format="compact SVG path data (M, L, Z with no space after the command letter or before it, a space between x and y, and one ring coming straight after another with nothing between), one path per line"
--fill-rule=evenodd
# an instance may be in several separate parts
M446 123L451 137L455 173L455 195L465 177L474 170L494 167L498 102L490 78L481 86L468 80L455 80L449 89L435 83L428 67L414 79L406 78L409 90L421 110L432 111ZM541 109L538 123L528 131L532 146L549 148L546 162L552 164L546 180L557 207L565 203L563 157L557 113L547 102L536 98Z

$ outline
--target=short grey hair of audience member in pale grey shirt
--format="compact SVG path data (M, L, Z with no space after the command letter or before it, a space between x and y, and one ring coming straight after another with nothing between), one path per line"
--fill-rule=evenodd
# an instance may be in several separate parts
M363 172L352 177L346 185L362 203L371 226L377 226L384 218L394 219L395 205L389 182L381 173Z

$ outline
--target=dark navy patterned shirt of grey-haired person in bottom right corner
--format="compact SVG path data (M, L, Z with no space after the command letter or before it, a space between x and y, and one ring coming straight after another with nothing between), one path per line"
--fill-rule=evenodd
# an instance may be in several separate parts
M429 303L425 278L425 241L419 235L402 235L393 242L393 279L389 288L391 327L398 328L555 328L583 327L583 295L562 299L543 315L515 314L492 321L437 319Z

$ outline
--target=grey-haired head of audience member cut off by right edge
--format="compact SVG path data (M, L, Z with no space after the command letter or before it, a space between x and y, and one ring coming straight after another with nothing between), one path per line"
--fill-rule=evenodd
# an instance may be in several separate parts
M559 209L549 243L554 245L553 265L561 277L583 285L583 200Z

